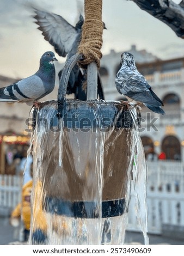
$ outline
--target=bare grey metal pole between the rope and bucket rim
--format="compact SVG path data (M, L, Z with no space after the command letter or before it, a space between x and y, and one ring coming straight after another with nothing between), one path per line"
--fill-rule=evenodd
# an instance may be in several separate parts
M87 100L94 100L97 98L97 65L92 62L88 65L87 77Z

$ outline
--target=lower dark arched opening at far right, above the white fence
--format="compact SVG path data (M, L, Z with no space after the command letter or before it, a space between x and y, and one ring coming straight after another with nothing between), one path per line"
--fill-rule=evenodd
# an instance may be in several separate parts
M166 136L162 141L162 151L167 160L181 161L180 141L173 135Z

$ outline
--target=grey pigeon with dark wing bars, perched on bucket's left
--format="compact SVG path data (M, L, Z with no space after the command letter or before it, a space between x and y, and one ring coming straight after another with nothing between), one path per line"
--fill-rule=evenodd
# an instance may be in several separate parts
M53 52L45 52L40 58L39 70L34 75L0 88L0 101L19 101L32 105L33 102L51 93L56 78L54 60L57 59Z

